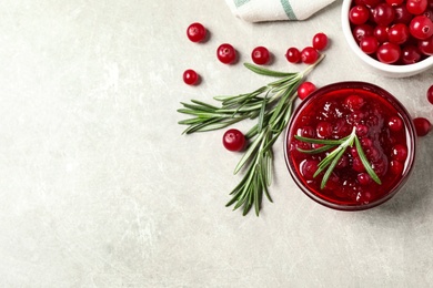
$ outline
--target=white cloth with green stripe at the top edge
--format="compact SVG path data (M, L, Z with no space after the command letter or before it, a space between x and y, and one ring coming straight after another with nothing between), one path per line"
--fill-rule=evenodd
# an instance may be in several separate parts
M305 20L335 0L225 0L236 17L249 22Z

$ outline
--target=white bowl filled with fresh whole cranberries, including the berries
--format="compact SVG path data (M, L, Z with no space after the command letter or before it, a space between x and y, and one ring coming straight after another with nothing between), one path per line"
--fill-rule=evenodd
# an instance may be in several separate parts
M344 0L342 29L371 70L405 78L433 68L433 0Z

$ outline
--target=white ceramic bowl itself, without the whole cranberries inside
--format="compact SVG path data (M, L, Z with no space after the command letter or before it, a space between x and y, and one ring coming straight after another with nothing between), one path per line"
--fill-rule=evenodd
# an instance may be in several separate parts
M431 68L433 68L433 56L429 56L423 61L420 61L415 64L409 65L392 65L382 63L370 55L362 52L360 47L358 45L355 39L352 35L351 25L349 22L349 11L351 9L351 3L353 0L343 0L342 12L341 12L341 21L344 38L351 48L351 50L356 54L361 61L366 64L373 72L379 73L389 78L406 78L413 76L421 72L424 72Z

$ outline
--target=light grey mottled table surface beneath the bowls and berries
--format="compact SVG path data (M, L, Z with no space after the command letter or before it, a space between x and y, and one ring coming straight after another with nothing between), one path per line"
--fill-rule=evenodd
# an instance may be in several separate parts
M433 136L412 177L381 207L343 213L294 185L274 145L274 203L260 217L224 207L240 154L223 131L181 135L181 101L249 92L256 45L269 68L315 32L331 39L310 75L356 80L430 117L433 71L372 74L349 51L341 1L302 22L246 23L223 0L0 3L0 287L433 287ZM202 22L208 42L187 27ZM222 42L235 65L215 59ZM203 78L182 82L185 69ZM236 127L245 130L249 123Z

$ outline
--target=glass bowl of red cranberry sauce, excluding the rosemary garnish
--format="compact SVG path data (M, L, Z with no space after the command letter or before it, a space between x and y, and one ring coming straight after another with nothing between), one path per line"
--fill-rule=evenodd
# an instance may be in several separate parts
M284 138L284 157L298 186L315 202L339 210L363 210L393 197L405 184L415 160L415 132L404 106L385 90L364 82L339 82L309 95L294 112ZM341 140L351 133L361 144L380 184L362 165L356 146L348 146L324 187L314 176L332 151L308 154L318 140Z

